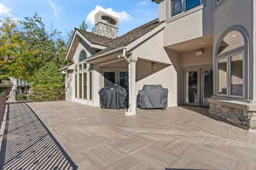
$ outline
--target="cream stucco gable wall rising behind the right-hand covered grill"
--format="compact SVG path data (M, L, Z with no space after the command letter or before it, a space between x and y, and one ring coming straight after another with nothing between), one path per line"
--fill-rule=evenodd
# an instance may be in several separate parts
M131 53L137 55L137 92L144 84L161 84L169 89L168 106L176 106L178 101L178 70L177 54L165 49L163 44L164 31L155 34ZM154 65L152 65L154 63Z

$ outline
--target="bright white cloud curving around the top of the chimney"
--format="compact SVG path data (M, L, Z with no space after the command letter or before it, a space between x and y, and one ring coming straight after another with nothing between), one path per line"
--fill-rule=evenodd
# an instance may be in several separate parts
M95 24L95 14L99 11L102 11L107 14L112 14L113 16L117 17L120 21L127 21L131 20L131 15L127 14L125 11L118 12L113 10L113 8L103 8L102 6L96 6L95 9L90 11L90 13L86 17L86 21L89 22L91 25Z

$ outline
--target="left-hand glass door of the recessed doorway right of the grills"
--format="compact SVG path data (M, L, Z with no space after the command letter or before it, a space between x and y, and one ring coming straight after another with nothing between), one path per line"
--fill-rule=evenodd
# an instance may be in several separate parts
M200 70L186 71L185 103L200 105Z

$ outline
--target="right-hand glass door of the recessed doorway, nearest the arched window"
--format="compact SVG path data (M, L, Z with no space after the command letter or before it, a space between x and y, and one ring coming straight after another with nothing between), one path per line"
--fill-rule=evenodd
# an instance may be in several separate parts
M208 99L213 94L213 71L201 69L201 105L209 106Z

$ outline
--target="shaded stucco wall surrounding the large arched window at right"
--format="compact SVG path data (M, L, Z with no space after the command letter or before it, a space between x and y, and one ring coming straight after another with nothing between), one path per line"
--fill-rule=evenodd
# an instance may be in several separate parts
M255 6L255 4L254 4ZM247 34L250 39L250 88L251 93L249 93L250 99L255 100L256 97L256 86L255 86L255 56L253 48L253 0L225 0L220 3L214 10L213 21L214 21L214 37L213 37L213 48L215 49L218 43L219 37L231 26L242 26L246 29ZM254 17L255 18L255 17ZM255 37L255 36L254 36ZM215 55L215 52L214 52ZM254 59L253 59L254 58ZM253 74L254 73L254 74ZM253 76L254 75L254 76ZM254 78L253 78L254 77ZM254 79L254 86L253 86ZM216 80L215 80L216 81ZM253 89L254 88L254 89ZM215 87L217 89L217 87ZM253 93L252 93L253 92Z

